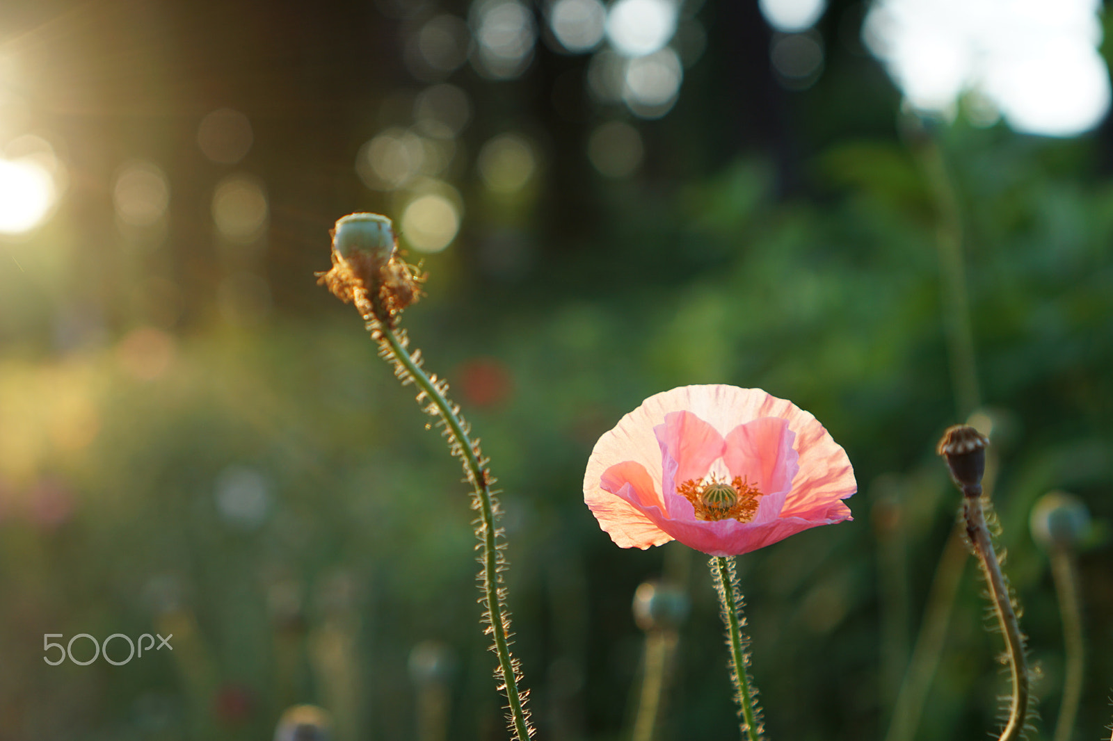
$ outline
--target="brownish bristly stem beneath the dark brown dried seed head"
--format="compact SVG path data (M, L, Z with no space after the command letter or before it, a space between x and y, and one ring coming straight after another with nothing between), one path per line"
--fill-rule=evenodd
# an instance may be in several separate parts
M1008 594L1008 585L1001 573L997 554L993 550L989 528L985 524L985 513L982 508L981 486L964 487L964 513L966 515L966 533L969 535L974 554L985 573L989 599L994 612L1001 623L1005 636L1005 650L1008 654L1008 668L1012 675L1013 694L1008 708L1008 721L1001 732L998 741L1016 741L1024 732L1024 722L1028 712L1028 666L1024 655L1024 635L1021 633L1013 600Z

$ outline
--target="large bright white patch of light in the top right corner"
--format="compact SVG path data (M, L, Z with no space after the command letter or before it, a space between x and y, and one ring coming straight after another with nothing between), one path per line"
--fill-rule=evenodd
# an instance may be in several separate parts
M974 92L1018 131L1071 137L1110 108L1100 8L1097 0L878 0L863 38L917 110L949 115Z

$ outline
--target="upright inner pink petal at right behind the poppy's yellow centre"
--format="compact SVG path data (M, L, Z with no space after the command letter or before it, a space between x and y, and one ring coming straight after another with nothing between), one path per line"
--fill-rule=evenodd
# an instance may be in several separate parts
M738 425L727 434L723 463L731 476L745 476L758 487L762 497L755 522L765 522L780 514L792 487L799 454L792 449L796 439L787 419L762 417Z

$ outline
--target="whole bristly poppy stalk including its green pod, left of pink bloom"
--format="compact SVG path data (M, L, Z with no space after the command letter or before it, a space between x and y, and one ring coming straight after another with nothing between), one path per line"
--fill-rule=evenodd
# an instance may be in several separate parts
M491 650L499 656L494 675L499 691L506 698L506 722L512 738L528 741L533 727L525 707L529 692L519 686L521 665L510 652L513 633L503 577L509 562L504 555L504 533L498 526L502 513L492 488L495 480L479 439L470 436L471 427L460 414L460 406L447 397L447 382L425 372L421 350L411 350L406 332L398 328L398 316L421 296L424 277L398 256L390 219L377 214L353 214L336 223L333 269L318 274L318 278L338 298L355 304L372 339L378 343L380 357L394 365L394 375L403 386L417 386L417 404L423 412L437 417L436 426L449 443L449 452L460 458L464 477L472 486L471 506L479 513L474 525L477 561L482 566L477 580L483 592L484 634L492 636Z

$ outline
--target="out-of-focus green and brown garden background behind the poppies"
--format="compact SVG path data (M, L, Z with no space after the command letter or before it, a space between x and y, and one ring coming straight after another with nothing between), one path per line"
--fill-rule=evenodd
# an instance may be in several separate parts
M859 485L854 522L739 559L770 738L885 737L959 502L935 442L973 412L1042 674L1032 738L1051 738L1064 659L1030 511L1062 488L1092 512L1074 738L1107 734L1109 125L1055 139L962 106L917 120L841 0L802 89L771 69L756 6L687 3L703 46L671 110L640 117L591 95L588 58L530 7L538 46L494 79L414 61L462 1L0 6L0 145L49 144L58 188L41 224L0 236L0 739L269 739L297 703L325 708L338 741L506 738L460 467L315 285L336 218L401 219L422 197L440 200L400 223L427 295L403 324L503 490L539 739L630 738L631 601L661 579L691 611L658 738L736 738L705 556L620 550L582 502L600 434L702 383L814 413ZM449 134L451 115L415 112L439 85L465 96ZM221 109L243 118L207 151ZM618 139L592 139L614 122ZM416 139L440 169L375 185L402 167L367 175L384 131L395 158ZM423 251L446 204L459 230ZM967 559L917 739L997 722L1001 638L975 572ZM45 634L80 633L173 633L173 651L43 661ZM420 721L434 700L443 731Z

